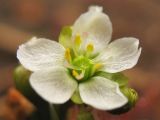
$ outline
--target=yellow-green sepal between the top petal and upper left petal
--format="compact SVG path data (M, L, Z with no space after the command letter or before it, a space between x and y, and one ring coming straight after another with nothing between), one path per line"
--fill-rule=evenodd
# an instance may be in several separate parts
M71 26L65 26L62 28L59 35L59 43L65 48L71 48L72 28Z

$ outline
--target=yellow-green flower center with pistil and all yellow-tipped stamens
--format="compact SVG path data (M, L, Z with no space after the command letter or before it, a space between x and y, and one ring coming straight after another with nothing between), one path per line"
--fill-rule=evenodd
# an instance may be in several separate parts
M101 68L102 64L94 63L92 60L93 51L94 45L92 43L88 43L86 47L82 46L80 35L75 36L73 47L66 49L67 68L76 80L88 80Z

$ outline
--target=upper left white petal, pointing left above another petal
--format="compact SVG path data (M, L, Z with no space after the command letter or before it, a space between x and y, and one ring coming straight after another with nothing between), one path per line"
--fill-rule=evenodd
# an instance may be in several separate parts
M25 68L37 71L62 65L64 51L64 47L55 41L34 37L19 46L17 58Z

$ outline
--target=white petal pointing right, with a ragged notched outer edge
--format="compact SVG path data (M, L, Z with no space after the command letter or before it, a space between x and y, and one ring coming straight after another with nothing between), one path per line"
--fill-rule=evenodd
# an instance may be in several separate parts
M138 49L139 40L136 38L121 38L109 44L102 55L101 61L104 63L106 72L115 73L134 67L141 54Z

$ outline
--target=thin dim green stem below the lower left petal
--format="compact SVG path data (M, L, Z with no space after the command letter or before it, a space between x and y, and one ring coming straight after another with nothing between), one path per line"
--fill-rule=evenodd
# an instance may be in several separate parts
M50 108L50 118L51 120L60 120L58 117L58 114L56 112L56 109L54 107L54 105L52 105L51 103L49 104L49 108Z

